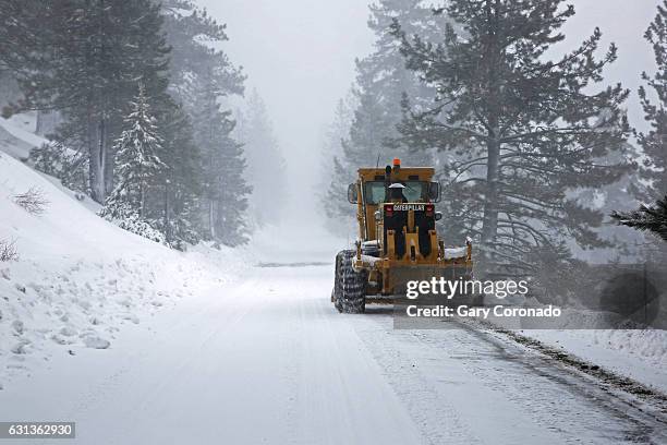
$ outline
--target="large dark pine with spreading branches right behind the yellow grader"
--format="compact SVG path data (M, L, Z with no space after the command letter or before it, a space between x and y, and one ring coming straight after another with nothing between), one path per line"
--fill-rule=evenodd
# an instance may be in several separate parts
M568 191L627 171L601 159L627 136L620 106L628 92L620 84L593 91L616 47L596 59L595 28L579 48L549 60L574 14L561 3L451 0L445 11L454 24L437 43L392 26L408 68L437 89L427 109L404 103L402 143L445 152L450 237L462 236L451 229L478 236L489 264L517 274L541 267L545 252L566 257L565 240L599 245L594 228L603 215Z

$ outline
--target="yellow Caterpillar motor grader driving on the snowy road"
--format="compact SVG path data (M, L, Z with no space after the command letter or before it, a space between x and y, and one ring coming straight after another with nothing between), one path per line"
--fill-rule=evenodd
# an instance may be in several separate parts
M386 168L360 168L348 188L356 205L355 249L336 256L331 301L339 312L362 313L367 303L405 298L412 280L471 279L472 243L446 248L438 237L435 211L440 184L428 167L402 168L393 159Z

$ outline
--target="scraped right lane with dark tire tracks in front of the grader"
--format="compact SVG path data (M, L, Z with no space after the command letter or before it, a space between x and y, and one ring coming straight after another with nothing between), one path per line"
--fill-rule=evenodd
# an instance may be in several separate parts
M390 312L379 311L372 317L373 324L356 324L360 337L376 351L380 363L390 366L392 383L399 388L408 386L398 389L401 398L430 432L434 443L447 437L444 433L451 434L451 429L438 432L438 426L452 419L454 423L456 419L462 421L463 429L482 443L490 444L523 443L531 436L555 444L667 441L650 417L517 345L464 327L395 330ZM430 390L422 394L420 387ZM425 411L425 399L430 399L436 411L448 408L446 416ZM505 422L498 423L501 418ZM451 426L456 431L457 425ZM468 437L447 437L452 440L471 443Z

